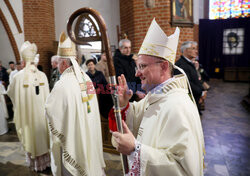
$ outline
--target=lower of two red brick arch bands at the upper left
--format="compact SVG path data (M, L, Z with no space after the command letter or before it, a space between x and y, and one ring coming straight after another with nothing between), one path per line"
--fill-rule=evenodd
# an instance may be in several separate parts
M11 32L10 26L9 26L1 8L0 8L0 20L3 23L5 31L7 32L8 38L9 38L10 43L11 43L11 47L12 47L14 54L15 54L15 57L16 57L16 62L18 62L18 61L20 61L20 55L19 55L19 51L17 48L17 44L16 44L15 38Z

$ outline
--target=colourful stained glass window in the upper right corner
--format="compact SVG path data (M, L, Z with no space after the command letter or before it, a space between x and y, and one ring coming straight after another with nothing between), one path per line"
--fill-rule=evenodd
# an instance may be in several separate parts
M210 0L209 19L250 17L250 0Z

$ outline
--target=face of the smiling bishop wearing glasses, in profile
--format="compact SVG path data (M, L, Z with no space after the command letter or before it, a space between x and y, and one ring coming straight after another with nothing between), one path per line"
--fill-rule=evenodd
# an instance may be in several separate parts
M135 76L141 79L141 88L147 92L161 83L161 62L157 61L147 55L139 55L136 61Z

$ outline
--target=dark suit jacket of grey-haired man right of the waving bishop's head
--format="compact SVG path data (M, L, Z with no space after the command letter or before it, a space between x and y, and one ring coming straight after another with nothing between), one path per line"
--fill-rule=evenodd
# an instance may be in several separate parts
M175 65L185 71L194 95L194 99L196 101L196 104L198 105L199 99L203 91L203 87L198 79L198 74L196 72L194 64L188 62L183 56L181 56L180 59L175 63ZM180 71L175 69L174 74L180 74Z

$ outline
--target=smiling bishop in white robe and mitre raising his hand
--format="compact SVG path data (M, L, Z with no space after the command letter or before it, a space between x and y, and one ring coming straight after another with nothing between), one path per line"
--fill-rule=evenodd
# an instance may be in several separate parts
M113 132L113 143L128 155L128 175L203 175L204 138L199 113L187 77L173 76L178 38L178 28L167 37L153 20L136 62L136 76L147 92L141 101L129 103L131 90L127 91L123 75L118 78L126 123L124 134ZM116 130L114 122L111 111L112 131Z

